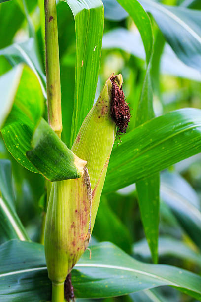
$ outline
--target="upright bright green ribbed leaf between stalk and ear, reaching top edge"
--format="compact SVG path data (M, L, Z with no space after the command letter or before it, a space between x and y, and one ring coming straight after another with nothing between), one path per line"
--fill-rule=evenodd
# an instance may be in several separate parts
M75 101L71 147L94 103L100 66L104 10L101 0L64 1L73 12L76 30Z

